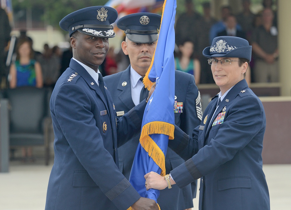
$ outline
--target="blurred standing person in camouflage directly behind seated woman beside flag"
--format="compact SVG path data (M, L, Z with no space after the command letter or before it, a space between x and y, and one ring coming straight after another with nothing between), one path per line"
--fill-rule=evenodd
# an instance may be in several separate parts
M185 0L185 12L179 15L175 26L175 37L177 45L181 40L189 39L195 46L198 44L198 28L202 16L195 11L195 5L192 0ZM196 56L196 53L195 53Z

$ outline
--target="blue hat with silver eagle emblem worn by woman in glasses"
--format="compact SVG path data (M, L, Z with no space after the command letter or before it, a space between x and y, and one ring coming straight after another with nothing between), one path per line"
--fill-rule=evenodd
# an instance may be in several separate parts
M251 61L252 46L243 38L235 36L215 37L212 45L203 50L205 57L238 57Z

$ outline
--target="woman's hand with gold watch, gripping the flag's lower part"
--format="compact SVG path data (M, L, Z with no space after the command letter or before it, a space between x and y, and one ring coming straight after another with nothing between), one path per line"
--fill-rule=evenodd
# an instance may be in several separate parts
M146 183L145 185L146 190L149 190L151 188L157 190L164 190L166 187L168 187L166 179L164 179L164 177L157 174L156 172L151 171L150 173L145 174L144 177Z

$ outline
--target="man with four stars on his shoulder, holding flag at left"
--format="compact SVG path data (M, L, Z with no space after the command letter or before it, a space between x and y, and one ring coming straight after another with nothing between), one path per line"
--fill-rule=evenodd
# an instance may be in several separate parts
M69 31L73 58L50 100L55 157L46 210L158 209L118 169L117 147L140 131L146 98L118 119L99 74L116 18L115 9L93 6L60 22Z

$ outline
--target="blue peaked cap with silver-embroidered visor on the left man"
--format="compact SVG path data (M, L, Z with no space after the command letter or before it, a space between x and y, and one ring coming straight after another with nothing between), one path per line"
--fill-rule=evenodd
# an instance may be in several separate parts
M112 23L117 19L117 11L108 6L92 6L74 11L60 21L61 29L75 31L97 37L114 37Z

